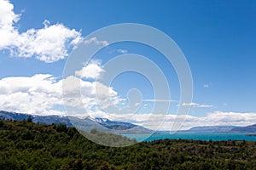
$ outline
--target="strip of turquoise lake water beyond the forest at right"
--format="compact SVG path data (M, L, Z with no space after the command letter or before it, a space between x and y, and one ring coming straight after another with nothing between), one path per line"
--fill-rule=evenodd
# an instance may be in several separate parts
M145 137L148 134L124 134L124 136L130 139L137 139L137 141L153 141L157 139L194 139L194 140L247 140L256 141L256 136L245 136L248 133L163 133L163 134L152 134L148 139Z

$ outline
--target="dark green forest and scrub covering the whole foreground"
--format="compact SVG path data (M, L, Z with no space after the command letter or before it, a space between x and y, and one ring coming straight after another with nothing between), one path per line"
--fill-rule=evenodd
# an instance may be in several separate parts
M0 120L0 168L255 169L256 142L165 139L116 148L95 144L64 124Z

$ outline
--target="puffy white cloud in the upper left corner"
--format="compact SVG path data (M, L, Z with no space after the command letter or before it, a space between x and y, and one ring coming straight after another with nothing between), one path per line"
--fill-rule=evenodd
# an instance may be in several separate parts
M15 14L14 5L0 0L0 50L9 49L15 57L36 59L50 63L67 57L68 51L82 40L81 33L61 23L50 25L44 21L41 29L21 32L15 27L20 14Z

